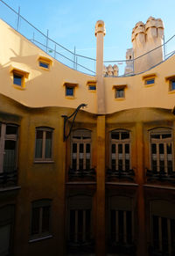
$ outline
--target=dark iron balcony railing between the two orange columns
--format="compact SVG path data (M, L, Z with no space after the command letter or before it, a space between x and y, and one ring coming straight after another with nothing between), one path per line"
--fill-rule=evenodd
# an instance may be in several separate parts
M129 179L131 181L134 180L135 177L135 172L133 169L128 170L128 171L123 171L123 170L112 170L109 169L107 171L107 179Z

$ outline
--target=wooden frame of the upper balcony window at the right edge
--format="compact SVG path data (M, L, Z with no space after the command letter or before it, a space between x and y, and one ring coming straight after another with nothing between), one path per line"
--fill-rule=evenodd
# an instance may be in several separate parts
M162 138L162 135L166 135L166 134L171 134L172 137L171 138ZM156 138L151 138L151 135L160 135L161 138L160 139L156 139ZM168 143L171 143L172 144L172 172L174 170L174 147L173 147L173 132L172 132L172 128L153 128L149 131L149 148L150 148L150 168L151 170L153 171L153 165L152 165L152 159L153 159L153 154L152 154L152 150L151 150L151 145L152 144L156 144L157 146L157 172L160 172L160 164L158 165L158 160L160 159L160 153L159 153L159 150L158 150L158 145L160 143L164 143L164 162L166 162L166 165L165 165L165 173L169 173L168 172L168 157L167 157L167 150L165 150L165 145L167 145ZM166 151L166 153L165 153Z

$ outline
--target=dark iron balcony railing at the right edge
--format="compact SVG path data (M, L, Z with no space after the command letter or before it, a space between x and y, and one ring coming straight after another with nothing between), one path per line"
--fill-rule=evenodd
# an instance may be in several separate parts
M157 172L146 169L147 181L158 180L175 183L175 172Z

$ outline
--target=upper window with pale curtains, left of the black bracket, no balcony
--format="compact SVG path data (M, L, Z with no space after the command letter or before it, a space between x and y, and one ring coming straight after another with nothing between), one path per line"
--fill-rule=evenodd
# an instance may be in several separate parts
M52 161L52 132L52 128L36 129L36 161Z

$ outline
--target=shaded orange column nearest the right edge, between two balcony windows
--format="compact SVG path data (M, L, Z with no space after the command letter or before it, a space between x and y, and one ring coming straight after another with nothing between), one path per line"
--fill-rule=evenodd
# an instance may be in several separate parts
M146 256L146 229L144 205L144 133L143 123L137 123L137 256Z

